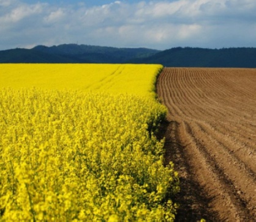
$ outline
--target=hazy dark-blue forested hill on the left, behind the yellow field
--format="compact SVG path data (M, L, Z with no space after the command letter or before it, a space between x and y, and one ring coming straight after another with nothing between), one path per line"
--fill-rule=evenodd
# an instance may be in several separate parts
M65 44L0 51L0 63L126 63L160 52L146 48L113 48Z

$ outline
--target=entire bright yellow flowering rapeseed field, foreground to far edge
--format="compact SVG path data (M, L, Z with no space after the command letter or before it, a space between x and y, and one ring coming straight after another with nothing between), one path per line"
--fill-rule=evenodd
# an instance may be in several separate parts
M161 68L0 64L0 221L173 221Z

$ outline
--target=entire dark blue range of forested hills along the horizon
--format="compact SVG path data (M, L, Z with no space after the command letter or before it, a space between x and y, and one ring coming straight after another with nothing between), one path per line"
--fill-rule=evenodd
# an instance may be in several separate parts
M0 51L0 63L159 63L179 67L256 68L256 48L114 48L64 44Z

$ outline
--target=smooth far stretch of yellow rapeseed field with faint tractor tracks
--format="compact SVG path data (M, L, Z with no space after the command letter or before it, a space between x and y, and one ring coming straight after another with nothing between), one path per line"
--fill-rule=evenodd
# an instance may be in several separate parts
M0 64L0 88L107 91L149 96L162 65Z

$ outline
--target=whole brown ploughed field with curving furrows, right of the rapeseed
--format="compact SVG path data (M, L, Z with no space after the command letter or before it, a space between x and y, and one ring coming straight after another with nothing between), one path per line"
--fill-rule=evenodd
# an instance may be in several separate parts
M254 221L256 69L165 68L157 93L181 180L177 221Z

